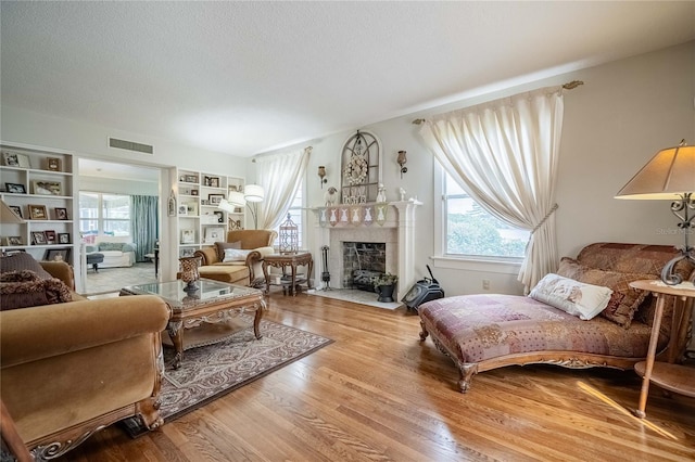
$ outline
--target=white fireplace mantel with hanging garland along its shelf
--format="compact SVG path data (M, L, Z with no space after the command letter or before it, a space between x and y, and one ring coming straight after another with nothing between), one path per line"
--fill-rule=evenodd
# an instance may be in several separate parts
M371 204L365 204L366 206ZM341 288L343 282L342 274L342 248L334 248L338 242L374 242L387 243L387 272L395 272L399 275L397 299L405 295L406 291L415 283L415 209L422 205L421 202L400 201L389 203L389 211L383 226L378 223L352 224L319 223L319 214L323 208L314 208L316 214L316 234L314 254L314 268L316 268L315 285L323 287L320 274L324 271L321 262L321 248L329 247L330 286ZM350 208L350 205L339 205L336 208ZM331 246L332 244L332 246ZM389 246L393 245L395 252L389 254Z

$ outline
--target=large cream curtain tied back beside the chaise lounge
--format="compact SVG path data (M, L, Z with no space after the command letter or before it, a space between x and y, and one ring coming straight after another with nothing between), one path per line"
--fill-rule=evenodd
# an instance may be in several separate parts
M554 211L563 88L542 88L429 118L420 134L481 207L531 231L518 280L527 292L557 265Z

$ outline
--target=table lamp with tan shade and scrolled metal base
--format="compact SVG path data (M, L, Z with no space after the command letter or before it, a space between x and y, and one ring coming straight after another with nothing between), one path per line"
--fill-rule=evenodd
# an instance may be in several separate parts
M681 260L695 265L695 248L691 247L688 236L694 228L695 210L695 146L681 141L675 147L659 151L628 184L616 195L616 198L669 200L671 211L680 222L685 245L681 253L671 259L661 271L661 280L668 285L683 282L683 278L674 272Z

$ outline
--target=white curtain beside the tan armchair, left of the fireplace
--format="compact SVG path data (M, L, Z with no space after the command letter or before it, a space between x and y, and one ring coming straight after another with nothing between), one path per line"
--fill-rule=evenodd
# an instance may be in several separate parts
M287 217L287 210L306 172L311 153L312 147L308 146L256 158L258 184L265 191L265 198L258 207L261 229L275 229Z

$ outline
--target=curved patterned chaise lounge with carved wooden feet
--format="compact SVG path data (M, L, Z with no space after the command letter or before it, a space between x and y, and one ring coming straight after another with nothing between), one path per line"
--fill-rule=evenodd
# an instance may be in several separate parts
M659 279L661 268L675 255L674 247L664 245L591 244L577 259L563 258L557 274L544 281L561 279L579 286L608 287L606 308L598 316L582 320L565 307L536 299L542 298L539 295L532 298L533 291L531 296L453 296L419 307L420 339L431 336L454 361L464 393L475 374L511 364L632 369L646 357L655 300L629 283ZM684 279L692 277L687 261L677 268ZM576 297L567 293L564 301L570 298ZM691 310L692 305L682 300L667 304L658 339L660 359L682 359Z

